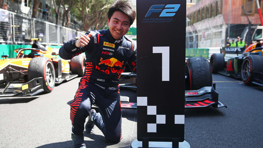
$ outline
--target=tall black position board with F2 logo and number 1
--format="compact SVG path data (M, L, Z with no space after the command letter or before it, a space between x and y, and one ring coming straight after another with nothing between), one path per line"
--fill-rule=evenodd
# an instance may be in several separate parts
M186 1L136 5L137 139L183 142Z

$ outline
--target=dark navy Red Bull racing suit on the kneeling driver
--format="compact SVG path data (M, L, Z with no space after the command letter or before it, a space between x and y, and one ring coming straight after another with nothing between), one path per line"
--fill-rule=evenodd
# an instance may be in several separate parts
M91 32L93 35L87 46L76 47L78 38L73 38L59 50L59 56L66 60L82 52L85 52L87 58L84 76L80 79L79 88L70 103L72 132L77 135L83 133L85 119L90 115L88 111L96 104L99 113L93 117L94 124L106 139L118 142L122 139L119 78L126 62L136 73L137 46L126 36L120 40L114 39L109 30Z

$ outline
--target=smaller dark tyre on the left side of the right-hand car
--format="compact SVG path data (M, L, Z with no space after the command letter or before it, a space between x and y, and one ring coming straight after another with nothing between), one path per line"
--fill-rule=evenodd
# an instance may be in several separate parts
M223 54L212 54L210 57L210 66L213 74L217 71L224 70L224 55Z

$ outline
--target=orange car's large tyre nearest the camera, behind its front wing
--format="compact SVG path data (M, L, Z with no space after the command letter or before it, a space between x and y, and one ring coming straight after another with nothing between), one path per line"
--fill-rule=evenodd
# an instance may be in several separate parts
M55 86L55 68L52 61L47 57L33 58L28 65L28 80L43 78L44 91L49 93Z

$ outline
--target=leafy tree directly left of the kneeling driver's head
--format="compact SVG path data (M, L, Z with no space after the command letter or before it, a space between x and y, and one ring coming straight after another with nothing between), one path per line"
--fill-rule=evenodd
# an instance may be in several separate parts
M76 0L74 14L81 15L80 30L104 29L107 24L107 12L113 0Z

